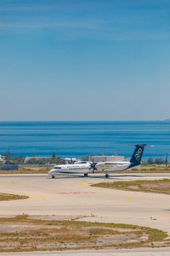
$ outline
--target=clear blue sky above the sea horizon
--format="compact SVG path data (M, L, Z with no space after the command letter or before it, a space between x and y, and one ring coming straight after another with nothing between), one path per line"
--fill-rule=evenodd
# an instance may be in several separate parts
M0 121L170 118L169 0L0 0Z

